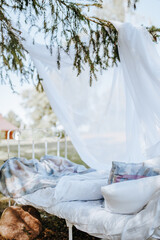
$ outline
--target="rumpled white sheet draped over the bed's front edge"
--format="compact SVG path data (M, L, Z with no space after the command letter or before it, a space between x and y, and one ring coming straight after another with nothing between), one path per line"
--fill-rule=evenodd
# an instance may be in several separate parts
M86 175L93 178L94 174L98 176L98 173ZM99 180L102 176L104 176L102 173L99 174ZM90 176L86 177L86 185L92 182L89 178ZM91 185L88 185L88 189ZM95 185L96 187L98 185ZM50 214L67 219L79 230L99 238L112 240L144 240L150 236L160 238L160 191L157 191L147 206L135 215L107 212L103 200L57 203L54 196L55 189L45 188L23 196L18 199L18 203L43 208Z

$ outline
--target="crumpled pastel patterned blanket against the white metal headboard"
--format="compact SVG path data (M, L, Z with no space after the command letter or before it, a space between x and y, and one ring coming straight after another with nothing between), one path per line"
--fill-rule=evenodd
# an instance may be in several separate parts
M62 176L82 172L86 172L84 166L57 156L46 155L40 161L10 158L0 168L0 192L19 198L41 188L54 188Z

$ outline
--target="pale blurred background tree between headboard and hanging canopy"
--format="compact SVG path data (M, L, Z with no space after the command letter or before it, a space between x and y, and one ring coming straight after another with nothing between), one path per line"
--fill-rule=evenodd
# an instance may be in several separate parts
M22 99L23 106L28 110L32 120L32 128L52 128L56 125L57 117L48 102L45 92L27 89L22 93Z

